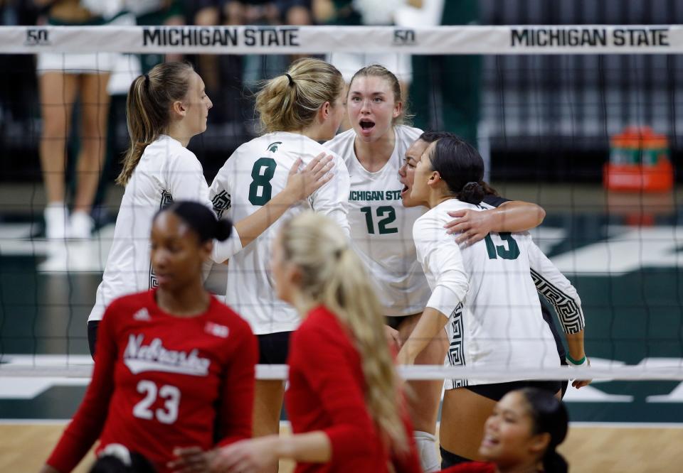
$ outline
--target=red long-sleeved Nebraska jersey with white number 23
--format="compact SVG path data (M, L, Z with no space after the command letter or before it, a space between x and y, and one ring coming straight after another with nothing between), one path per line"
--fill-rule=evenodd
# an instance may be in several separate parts
M97 437L98 450L120 443L159 472L169 471L175 447L206 450L215 439L251 437L258 345L248 323L213 297L203 314L176 317L159 308L155 293L107 308L92 381L48 459L60 472L71 471Z

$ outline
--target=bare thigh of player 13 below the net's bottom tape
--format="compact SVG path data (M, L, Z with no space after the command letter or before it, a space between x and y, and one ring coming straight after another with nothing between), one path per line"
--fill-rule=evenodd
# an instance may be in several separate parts
M496 401L467 388L445 391L439 429L441 447L460 457L479 459L484 423L495 406Z

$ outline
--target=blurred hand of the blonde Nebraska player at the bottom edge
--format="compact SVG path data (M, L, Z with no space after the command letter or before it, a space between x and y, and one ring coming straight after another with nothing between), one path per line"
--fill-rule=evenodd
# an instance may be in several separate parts
M277 435L240 440L218 450L209 464L211 473L255 473L277 464Z

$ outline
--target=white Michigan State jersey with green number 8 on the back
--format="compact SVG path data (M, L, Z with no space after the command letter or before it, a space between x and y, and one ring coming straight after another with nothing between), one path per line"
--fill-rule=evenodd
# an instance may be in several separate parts
M306 165L322 152L333 154L300 134L278 131L254 138L237 148L218 171L209 190L214 210L219 217L227 215L233 221L248 217L285 188L297 158ZM249 322L256 335L289 332L299 324L295 309L277 299L270 278L270 245L280 224L308 208L326 214L349 234L349 174L342 158L333 156L334 178L306 202L287 210L283 218L228 262L226 303Z

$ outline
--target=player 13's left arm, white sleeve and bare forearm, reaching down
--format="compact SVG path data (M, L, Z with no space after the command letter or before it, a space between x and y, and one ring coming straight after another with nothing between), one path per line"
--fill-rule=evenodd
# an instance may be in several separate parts
M418 219L413 227L413 239L418 261L425 271L429 269L438 278L420 320L398 352L398 364L413 364L415 357L443 330L469 288L460 248L438 220Z

